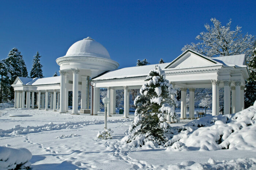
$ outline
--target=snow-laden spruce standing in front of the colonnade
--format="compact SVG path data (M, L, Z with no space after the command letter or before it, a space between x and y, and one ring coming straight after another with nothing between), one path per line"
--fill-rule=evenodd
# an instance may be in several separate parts
M146 80L147 83L140 89L140 96L137 96L134 105L136 107L135 118L129 131L133 132L128 136L126 142L136 140L139 146L147 141L163 145L172 137L171 126L166 123L165 114L174 117L174 102L170 95L176 90L165 79L165 72L159 66L150 71ZM168 102L168 103L167 103Z

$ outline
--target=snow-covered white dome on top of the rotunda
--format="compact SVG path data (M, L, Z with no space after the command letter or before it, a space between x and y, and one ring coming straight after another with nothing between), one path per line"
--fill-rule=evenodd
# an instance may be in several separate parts
M100 57L110 59L106 48L91 37L74 43L69 47L64 57Z

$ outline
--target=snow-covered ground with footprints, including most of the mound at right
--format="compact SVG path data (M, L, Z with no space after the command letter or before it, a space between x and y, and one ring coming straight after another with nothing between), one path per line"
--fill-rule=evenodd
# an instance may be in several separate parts
M256 108L244 110L243 114L246 113L256 115ZM17 114L30 116L9 116ZM2 108L0 109L0 146L27 148L32 153L30 162L33 170L256 169L255 120L250 121L251 125L244 124L241 129L240 126L236 129L236 125L249 120L243 120L238 115L239 121L233 121L235 117L233 116L232 119L229 115L229 122L227 122L228 120L211 116L207 119L207 116L189 123L191 128L184 129L179 136L176 136L181 138L180 143L175 144L177 149L172 146L155 147L150 143L135 148L121 142L121 139L128 134L129 125L134 117L132 113L130 114L128 119L118 114L108 117L108 128L113 130L113 137L101 140L97 138L97 134L98 131L103 131L103 115L71 115L36 109ZM209 120L214 120L214 123ZM171 125L180 128L188 127L184 123ZM193 125L195 125L194 128ZM198 125L205 127L199 128ZM207 145L204 139L205 137L211 139L211 135L217 134L218 129L221 128L223 128L223 134L218 134L217 142L232 143L229 149L219 149L216 147L216 142ZM232 132L232 129L235 132ZM241 135L238 133L240 131ZM243 146L231 148L236 146L236 141L231 140L231 135L235 136L234 139L239 139L237 143ZM178 146L179 144L181 146ZM184 144L186 147L180 149Z

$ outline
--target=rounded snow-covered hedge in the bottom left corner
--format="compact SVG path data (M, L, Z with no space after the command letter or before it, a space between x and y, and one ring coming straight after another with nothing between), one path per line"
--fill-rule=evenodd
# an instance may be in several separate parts
M29 169L32 154L26 148L9 148L0 146L0 169Z

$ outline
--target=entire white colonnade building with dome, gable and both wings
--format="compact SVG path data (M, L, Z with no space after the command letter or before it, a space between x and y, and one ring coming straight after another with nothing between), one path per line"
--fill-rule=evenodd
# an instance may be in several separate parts
M108 116L111 116L116 113L116 90L123 89L124 117L128 117L129 90L140 89L150 70L155 67L146 65L117 69L119 64L110 59L105 47L90 37L74 43L67 54L57 58L56 62L60 66L60 76L16 78L12 85L15 91L15 108L25 107L25 95L26 108L30 108L30 103L34 108L33 101L37 94L37 108L47 110L46 98L50 94L50 109L65 113L68 112L68 92L72 91L72 113L78 114L78 92L81 91L80 113L97 115L100 88L107 88L110 99ZM224 114L244 109L244 86L249 77L244 54L210 58L187 50L172 62L157 65L165 71L166 79L173 87L181 89L181 119L194 119L196 88L212 88L212 115L219 114L219 88L224 88ZM187 89L189 117L186 115ZM172 120L167 116L167 121Z

